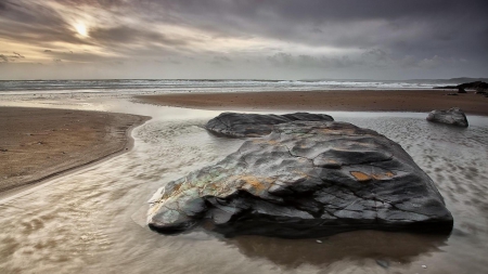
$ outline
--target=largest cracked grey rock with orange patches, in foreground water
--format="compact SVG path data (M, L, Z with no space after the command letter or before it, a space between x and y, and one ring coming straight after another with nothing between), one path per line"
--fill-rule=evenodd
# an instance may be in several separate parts
M433 181L397 143L345 122L294 121L158 190L149 225L226 236L318 237L352 230L450 232Z

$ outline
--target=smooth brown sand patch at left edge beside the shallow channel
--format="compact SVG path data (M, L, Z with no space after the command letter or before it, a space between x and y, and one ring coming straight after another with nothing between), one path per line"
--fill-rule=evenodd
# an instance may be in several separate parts
M0 196L130 148L147 117L0 107Z

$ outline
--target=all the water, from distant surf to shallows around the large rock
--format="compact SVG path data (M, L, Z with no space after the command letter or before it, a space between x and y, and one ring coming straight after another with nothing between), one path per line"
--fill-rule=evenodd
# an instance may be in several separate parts
M470 127L457 129L427 122L421 113L326 112L335 120L373 129L400 144L444 196L454 218L450 235L356 231L307 239L224 238L196 229L168 236L145 223L147 200L157 188L223 159L244 140L205 130L206 121L219 112L140 104L128 94L435 84L444 83L1 81L0 106L128 113L152 119L132 131L129 152L0 198L0 273L488 273L488 118L480 116L470 115ZM87 93L90 96L81 96Z

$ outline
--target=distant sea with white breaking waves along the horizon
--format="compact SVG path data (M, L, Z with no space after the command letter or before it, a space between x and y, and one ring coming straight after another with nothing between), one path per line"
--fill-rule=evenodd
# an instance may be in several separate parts
M455 79L422 80L25 80L0 81L1 94L52 94L52 93L118 93L134 92L253 92L253 91L304 91L304 90L398 90L432 89L452 83Z

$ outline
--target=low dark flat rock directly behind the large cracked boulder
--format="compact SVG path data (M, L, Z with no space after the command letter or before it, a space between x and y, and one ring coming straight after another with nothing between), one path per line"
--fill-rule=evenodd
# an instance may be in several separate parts
M296 113L285 115L260 115L222 113L209 120L205 128L210 132L233 138L253 138L269 134L274 125L290 121L333 121L329 115Z

